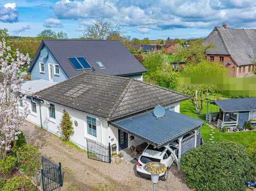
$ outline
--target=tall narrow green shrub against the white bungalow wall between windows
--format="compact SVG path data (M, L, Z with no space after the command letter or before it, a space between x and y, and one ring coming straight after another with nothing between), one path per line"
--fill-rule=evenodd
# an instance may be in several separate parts
M60 129L62 138L66 141L69 141L70 136L74 134L74 129L72 126L72 121L70 120L70 116L65 109L63 110L63 115L60 122Z

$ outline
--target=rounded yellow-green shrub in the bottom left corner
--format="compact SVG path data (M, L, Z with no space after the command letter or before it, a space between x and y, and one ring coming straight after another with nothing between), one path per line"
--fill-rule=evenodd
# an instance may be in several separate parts
M36 191L36 189L28 177L14 176L7 180L1 191Z

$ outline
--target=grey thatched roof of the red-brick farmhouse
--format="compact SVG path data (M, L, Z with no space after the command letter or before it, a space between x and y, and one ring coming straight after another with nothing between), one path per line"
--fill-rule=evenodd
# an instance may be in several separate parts
M215 44L206 54L231 55L238 66L252 64L256 58L256 29L215 27L204 44Z

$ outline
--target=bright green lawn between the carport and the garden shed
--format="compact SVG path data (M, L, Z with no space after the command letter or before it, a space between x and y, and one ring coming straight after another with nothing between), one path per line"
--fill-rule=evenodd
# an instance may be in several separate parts
M189 115L197 119L205 120L206 104L203 109L203 114L204 114L203 116L196 115L195 108L189 100L181 102L180 112L182 114ZM215 142L216 141L233 141L248 147L252 142L256 141L256 131L223 133L216 128L214 128L213 131L211 131L211 128L207 124L204 124L200 132L202 133L202 138L206 142L207 141L215 141ZM213 135L210 135L210 134L213 134ZM212 138L213 140L210 140L211 136L214 136L214 138Z

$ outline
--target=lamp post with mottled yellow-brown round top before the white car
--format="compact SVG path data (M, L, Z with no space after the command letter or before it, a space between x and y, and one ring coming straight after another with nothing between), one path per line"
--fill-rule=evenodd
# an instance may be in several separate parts
M157 191L157 182L159 180L159 175L161 173L165 173L167 167L161 162L149 162L145 165L144 169L151 174L153 191Z

